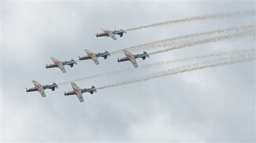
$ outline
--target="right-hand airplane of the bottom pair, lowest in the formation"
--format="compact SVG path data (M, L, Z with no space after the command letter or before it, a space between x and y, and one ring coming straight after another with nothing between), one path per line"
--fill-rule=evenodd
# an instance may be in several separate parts
M77 95L77 98L79 99L80 102L84 102L84 98L83 98L83 93L84 92L90 92L91 94L93 94L93 92L97 92L96 88L92 85L92 88L88 88L88 89L80 89L77 84L75 82L71 82L73 91L69 91L69 92L64 92L65 96L68 95Z

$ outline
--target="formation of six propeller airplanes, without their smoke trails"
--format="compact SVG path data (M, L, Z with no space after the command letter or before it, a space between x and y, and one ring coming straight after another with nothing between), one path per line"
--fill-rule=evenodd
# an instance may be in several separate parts
M100 28L100 30L103 31L103 33L97 33L96 37L110 37L113 40L117 40L115 34L119 35L120 37L123 37L123 34L126 33L124 30L114 30L114 31L110 31L110 30L105 30L103 28ZM99 61L98 58L99 57L103 57L104 59L107 59L107 56L111 56L109 52L105 51L104 53L93 53L91 52L89 49L84 49L84 52L87 54L85 56L78 56L78 60L82 61L82 60L88 60L91 59L96 65L99 65ZM143 60L145 60L146 58L149 58L149 54L147 54L147 52L143 52L143 54L132 54L129 51L127 51L127 49L123 49L123 52L125 54L124 58L117 58L117 62L123 62L123 61L130 61L133 65L134 68L138 67L137 61L136 59L138 58L142 58ZM45 68L59 68L62 73L66 73L66 69L64 66L70 66L71 68L74 65L77 65L77 61L71 59L70 61L59 61L56 58L51 57L50 58L53 63L51 63L50 65L46 64ZM37 81L32 81L32 83L35 85L35 87L27 89L26 88L26 92L32 92L32 91L38 91L42 97L45 97L45 89L51 89L52 91L55 90L55 88L58 88L58 85L53 82L51 85L41 85L40 83L38 83ZM90 92L90 94L93 94L95 92L97 92L97 89L95 88L94 85L91 86L91 88L84 88L84 89L80 89L78 87L78 85L75 82L71 82L71 86L73 88L72 91L69 92L64 92L65 96L69 96L69 95L77 95L77 98L79 99L80 102L84 102L84 98L83 98L83 93L85 92Z

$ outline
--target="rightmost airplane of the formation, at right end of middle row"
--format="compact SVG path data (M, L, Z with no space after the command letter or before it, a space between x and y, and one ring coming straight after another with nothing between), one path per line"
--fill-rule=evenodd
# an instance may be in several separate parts
M134 66L134 68L138 67L138 64L136 62L137 58L142 58L143 60L145 60L146 58L149 58L149 54L147 54L146 51L143 51L143 54L137 54L137 55L133 55L132 53L127 51L127 49L123 49L122 51L124 52L126 57L121 58L121 59L117 58L117 61L118 62L130 61L132 63L132 65Z

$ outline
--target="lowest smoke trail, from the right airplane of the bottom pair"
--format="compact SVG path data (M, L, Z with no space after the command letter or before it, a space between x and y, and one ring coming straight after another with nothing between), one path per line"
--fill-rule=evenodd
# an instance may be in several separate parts
M198 69L230 65L232 63L252 61L252 60L255 60L255 59L256 59L256 56L254 54L252 56L247 56L247 57L242 57L242 58L230 57L229 59L223 58L223 59L219 59L219 60L215 60L215 61L207 61L206 60L206 61L200 62L200 63L194 63L194 64L190 64L190 65L186 65L186 66L181 66L181 67L178 67L178 68L173 68L173 69L169 69L169 70L165 70L165 71L160 71L160 72L150 74L150 75L140 77L140 78L133 78L133 79L127 80L127 81L105 85L105 86L99 87L97 89L99 90L99 89L105 89L105 88L110 88L110 87L117 87L117 86L120 86L120 85L147 81L147 80L151 80L153 78L164 77L164 76L169 76L169 75L178 74L178 73L185 73L185 72L188 72L188 71L193 71L193 70L198 70Z

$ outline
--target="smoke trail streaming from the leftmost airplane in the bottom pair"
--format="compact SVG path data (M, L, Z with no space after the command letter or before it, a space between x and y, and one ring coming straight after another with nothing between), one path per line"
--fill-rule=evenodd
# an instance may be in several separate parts
M170 63L176 63L176 62L182 62L182 61L191 61L191 60L200 60L200 59L205 59L205 58L215 58L215 57L219 57L219 56L234 56L234 55L239 56L239 55L246 55L246 54L250 54L250 53L255 53L255 48L235 50L235 51L227 51L227 52L219 52L219 53L213 53L213 54L207 54L207 55L201 55L201 56L193 56L193 57L190 57L190 58L182 58L182 59L176 59L176 60L167 60L167 61L155 62L155 63L150 63L150 64L147 64L147 65L140 66L138 68L149 68L149 67L153 67L153 66L160 66L160 65L170 64ZM123 72L131 71L131 70L134 70L134 69L135 68L127 68L127 69L122 69L122 70L110 71L110 72L107 72L107 73L87 76L87 77L83 77L83 78L78 78L76 80L59 83L58 85L69 84L70 82L89 80L91 78L97 78L97 77L104 76L104 75L109 75L109 74L123 73Z

